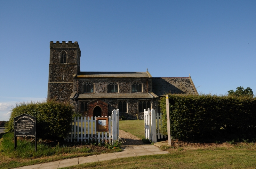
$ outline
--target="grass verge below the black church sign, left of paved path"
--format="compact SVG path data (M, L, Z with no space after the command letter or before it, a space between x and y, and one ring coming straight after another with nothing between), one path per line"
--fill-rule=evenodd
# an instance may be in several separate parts
M35 142L33 143L27 139L17 140L17 149L14 150L13 133L7 133L0 140L0 169L118 151L122 150L109 150L104 146L81 145L78 143L70 146L57 144L53 147L48 144L39 143L37 144L37 151L35 151Z

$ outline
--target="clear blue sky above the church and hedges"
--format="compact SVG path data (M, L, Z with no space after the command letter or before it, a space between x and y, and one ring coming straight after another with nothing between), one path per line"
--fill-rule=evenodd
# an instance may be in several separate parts
M198 92L256 93L256 1L0 1L0 120L47 97L50 41L81 71L191 77Z

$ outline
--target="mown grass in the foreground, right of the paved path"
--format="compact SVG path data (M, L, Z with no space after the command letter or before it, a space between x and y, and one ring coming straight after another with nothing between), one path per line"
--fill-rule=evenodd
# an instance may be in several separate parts
M84 163L65 169L82 168L179 168L179 169L210 169L210 168L255 168L256 146L247 146L243 149L212 148L196 150L171 149L170 154L150 155L130 158L119 158L115 160Z

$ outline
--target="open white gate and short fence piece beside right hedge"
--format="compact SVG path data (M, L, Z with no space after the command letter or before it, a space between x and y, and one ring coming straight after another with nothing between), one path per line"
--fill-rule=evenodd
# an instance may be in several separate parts
M160 117L160 122L159 122ZM149 141L156 142L156 136L158 139L166 138L165 135L160 133L160 127L162 128L162 113L156 113L155 109L144 109L144 122L145 122L145 138L149 139ZM157 130L156 130L157 127Z

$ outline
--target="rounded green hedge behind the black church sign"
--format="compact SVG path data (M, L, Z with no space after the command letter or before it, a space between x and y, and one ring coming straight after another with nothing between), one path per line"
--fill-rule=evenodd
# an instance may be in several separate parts
M73 107L56 101L19 103L12 109L9 131L13 131L13 118L23 113L36 117L36 137L58 139L66 137L68 133Z

